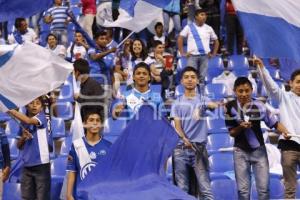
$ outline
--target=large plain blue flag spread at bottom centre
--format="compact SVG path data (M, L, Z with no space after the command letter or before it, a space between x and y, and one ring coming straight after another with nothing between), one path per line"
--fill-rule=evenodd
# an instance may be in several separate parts
M178 142L174 128L153 119L153 108L142 106L107 156L79 185L84 200L193 200L170 184L165 163Z

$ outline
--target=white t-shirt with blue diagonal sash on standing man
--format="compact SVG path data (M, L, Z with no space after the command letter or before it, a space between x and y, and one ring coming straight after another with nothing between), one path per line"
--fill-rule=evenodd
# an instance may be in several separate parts
M205 51L205 54L208 54L210 52L209 43L211 40L217 40L218 36L207 24L203 24L202 26L197 26L195 23L193 24L196 27L196 30L201 38L202 45ZM187 52L190 52L192 55L199 55L199 51L194 39L194 36L192 34L192 31L190 30L190 26L187 25L183 28L183 30L180 32L180 35L183 37L187 37Z

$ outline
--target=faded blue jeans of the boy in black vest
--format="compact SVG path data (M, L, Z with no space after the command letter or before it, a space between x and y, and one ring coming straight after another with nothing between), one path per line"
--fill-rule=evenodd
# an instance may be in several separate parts
M253 152L245 152L238 147L234 150L234 171L239 199L250 199L251 167L258 198L260 200L269 199L269 161L265 146L261 146Z

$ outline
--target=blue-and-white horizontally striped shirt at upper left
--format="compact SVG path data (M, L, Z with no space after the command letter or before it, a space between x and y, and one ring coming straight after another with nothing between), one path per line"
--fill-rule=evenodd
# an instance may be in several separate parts
M66 30L67 25L65 24L68 19L68 13L71 11L67 6L54 6L49 8L45 16L52 16L53 20L51 22L50 30Z

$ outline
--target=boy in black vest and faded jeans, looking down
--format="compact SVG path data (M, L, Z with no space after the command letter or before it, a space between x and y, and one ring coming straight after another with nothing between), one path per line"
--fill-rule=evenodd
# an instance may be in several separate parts
M269 162L261 121L287 136L286 128L260 101L252 100L252 84L246 77L234 82L236 99L226 104L226 126L234 137L234 172L239 199L250 199L251 168L259 199L269 199Z

